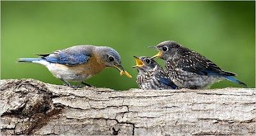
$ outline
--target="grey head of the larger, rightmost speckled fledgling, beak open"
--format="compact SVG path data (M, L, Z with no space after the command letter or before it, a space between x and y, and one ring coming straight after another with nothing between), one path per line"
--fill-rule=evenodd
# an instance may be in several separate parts
M151 59L154 59L156 57L161 59L167 59L168 57L172 57L176 52L178 52L182 48L182 46L175 41L164 41L156 46L149 48L154 48L159 51L158 54L151 57Z

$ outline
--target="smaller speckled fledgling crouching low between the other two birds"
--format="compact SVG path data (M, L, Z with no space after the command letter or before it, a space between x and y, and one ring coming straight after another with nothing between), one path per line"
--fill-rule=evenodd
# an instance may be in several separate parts
M136 68L138 76L136 82L141 89L177 89L177 86L168 79L168 74L164 69L150 57L136 57Z

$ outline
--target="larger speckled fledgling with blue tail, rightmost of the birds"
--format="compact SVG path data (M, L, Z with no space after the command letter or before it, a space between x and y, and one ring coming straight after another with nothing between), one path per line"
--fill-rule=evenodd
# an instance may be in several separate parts
M177 42L165 41L153 48L159 50L159 53L151 58L163 59L170 79L181 88L207 88L214 82L225 79L246 86L232 77L236 73L221 70L206 57L182 47Z

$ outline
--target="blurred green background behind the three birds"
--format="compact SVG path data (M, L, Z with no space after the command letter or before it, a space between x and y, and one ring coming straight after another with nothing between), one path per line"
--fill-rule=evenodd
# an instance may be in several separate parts
M62 84L44 66L15 61L91 44L116 49L133 78L108 68L89 84L138 87L132 56L153 56L157 51L147 47L165 40L196 50L255 87L254 1L1 1L1 79ZM221 81L212 88L229 86L241 87Z

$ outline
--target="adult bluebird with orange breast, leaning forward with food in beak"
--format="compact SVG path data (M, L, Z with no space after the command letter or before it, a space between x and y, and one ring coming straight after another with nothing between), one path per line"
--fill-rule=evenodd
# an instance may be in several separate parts
M104 68L114 67L124 72L121 65L121 57L111 47L98 47L94 45L77 45L63 50L56 50L51 54L37 54L40 58L20 58L19 62L31 62L44 65L58 79L69 83L81 82L86 86L84 80L100 73Z

